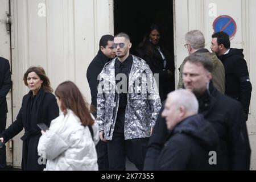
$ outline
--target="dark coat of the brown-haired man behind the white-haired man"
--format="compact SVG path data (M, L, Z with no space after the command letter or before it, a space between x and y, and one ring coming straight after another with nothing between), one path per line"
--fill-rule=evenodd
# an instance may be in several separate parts
M236 100L219 93L212 84L205 96L198 98L199 113L212 123L220 139L217 156L219 169L249 170L250 143L242 106ZM164 104L148 144L144 169L154 170L157 156L167 140L166 121L161 117Z

